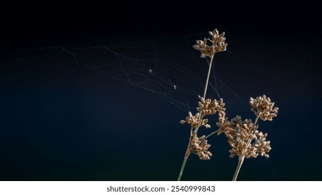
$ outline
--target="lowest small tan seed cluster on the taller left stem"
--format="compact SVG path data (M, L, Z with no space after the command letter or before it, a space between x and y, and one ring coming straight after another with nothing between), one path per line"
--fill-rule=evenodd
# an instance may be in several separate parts
M208 151L210 148L210 144L208 144L207 140L204 140L205 136L202 137L194 137L191 141L191 153L195 153L199 156L200 159L207 160L210 159L212 154Z

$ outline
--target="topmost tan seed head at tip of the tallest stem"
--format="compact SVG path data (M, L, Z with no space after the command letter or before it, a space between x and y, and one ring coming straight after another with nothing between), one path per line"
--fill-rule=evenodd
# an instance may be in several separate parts
M193 45L194 49L197 49L201 52L201 57L205 58L206 56L212 57L216 52L226 51L227 44L225 43L225 32L219 35L217 29L213 32L209 31L210 38L204 38L204 40L197 40L196 45ZM207 45L207 41L211 42L211 45Z

